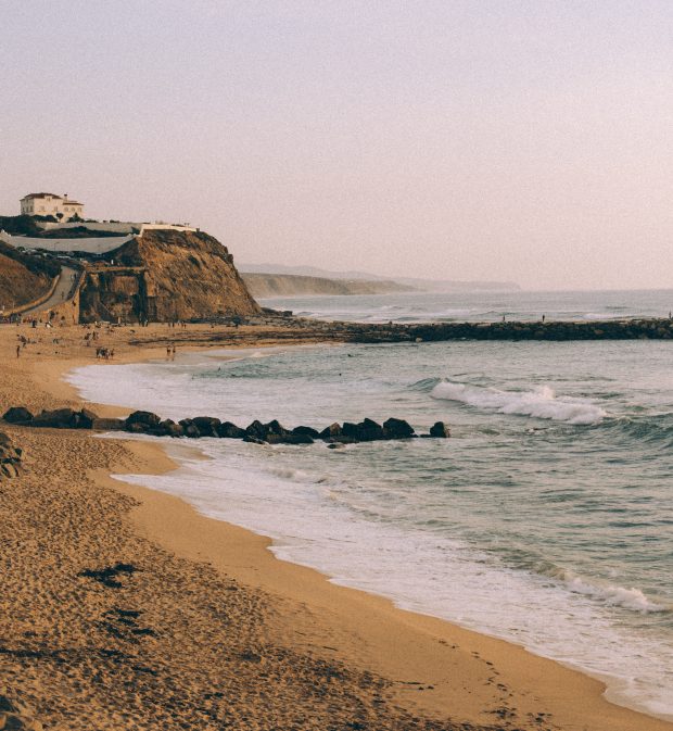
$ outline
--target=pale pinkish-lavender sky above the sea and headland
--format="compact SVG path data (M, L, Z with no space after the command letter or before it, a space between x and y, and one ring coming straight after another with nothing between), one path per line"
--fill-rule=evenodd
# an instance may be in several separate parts
M0 214L236 262L673 287L673 3L0 0Z

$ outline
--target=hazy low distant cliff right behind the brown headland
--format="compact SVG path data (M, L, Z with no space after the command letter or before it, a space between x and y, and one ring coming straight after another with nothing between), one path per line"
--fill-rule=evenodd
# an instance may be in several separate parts
M243 273L250 292L256 298L303 297L310 294L389 294L414 291L396 281L363 279L326 279L291 274Z

